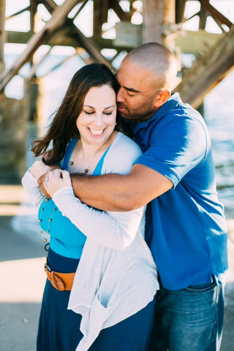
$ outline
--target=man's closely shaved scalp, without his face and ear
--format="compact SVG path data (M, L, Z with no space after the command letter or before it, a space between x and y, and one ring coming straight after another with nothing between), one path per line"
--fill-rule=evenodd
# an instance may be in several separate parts
M123 59L131 61L141 69L149 69L161 89L171 88L177 73L174 55L165 46L151 42L130 51Z

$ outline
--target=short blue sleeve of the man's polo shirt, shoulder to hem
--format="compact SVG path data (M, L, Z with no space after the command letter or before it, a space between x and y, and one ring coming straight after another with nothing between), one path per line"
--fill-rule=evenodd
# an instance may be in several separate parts
M135 163L161 173L174 188L204 160L206 151L207 135L202 123L189 116L174 115L160 131L155 130L148 150Z

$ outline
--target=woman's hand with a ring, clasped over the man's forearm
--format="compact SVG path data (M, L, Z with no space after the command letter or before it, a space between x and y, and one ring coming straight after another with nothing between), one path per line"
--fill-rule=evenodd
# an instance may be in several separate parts
M53 197L56 191L65 186L72 186L69 172L57 168L47 173L44 187L51 197Z

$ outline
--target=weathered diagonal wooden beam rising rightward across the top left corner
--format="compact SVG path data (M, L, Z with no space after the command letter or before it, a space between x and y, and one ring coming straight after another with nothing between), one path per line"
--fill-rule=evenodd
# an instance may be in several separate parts
M77 4L77 0L66 0L61 6L55 8L52 13L51 19L45 24L39 33L35 33L28 41L27 48L14 62L14 64L2 73L0 77L0 92L5 88L6 84L14 77L19 69L31 59L36 49L44 44L56 29L63 25L68 13Z

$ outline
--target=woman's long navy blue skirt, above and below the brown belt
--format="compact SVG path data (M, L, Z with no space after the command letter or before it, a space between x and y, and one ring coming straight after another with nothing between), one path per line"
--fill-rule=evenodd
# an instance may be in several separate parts
M53 271L75 272L79 259L67 258L49 249ZM41 305L37 351L75 351L83 337L81 315L67 309L70 291L56 290L47 279ZM91 351L147 351L152 332L155 298L145 308L112 327L102 329Z

